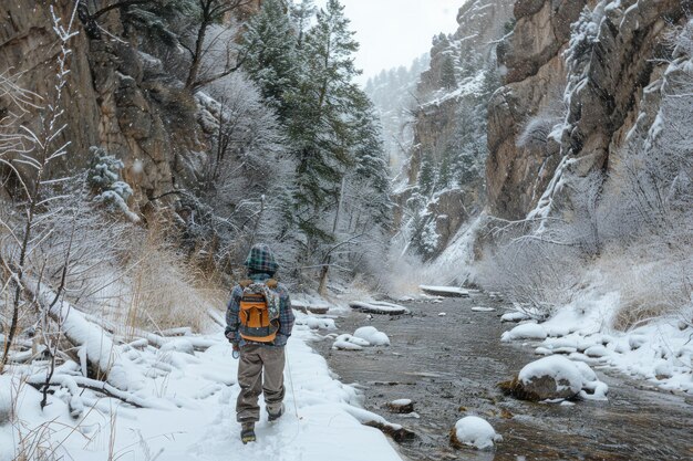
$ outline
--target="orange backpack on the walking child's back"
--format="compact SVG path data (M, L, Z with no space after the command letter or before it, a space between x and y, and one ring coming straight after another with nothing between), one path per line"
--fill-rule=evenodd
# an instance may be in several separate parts
M279 331L279 296L273 292L277 281L239 283L244 289L239 305L240 337L255 343L271 343Z

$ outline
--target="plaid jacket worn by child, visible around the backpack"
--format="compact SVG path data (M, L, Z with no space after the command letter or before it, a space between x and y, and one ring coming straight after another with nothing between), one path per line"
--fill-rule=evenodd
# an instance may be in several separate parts
M267 282L270 276L269 274L251 274L250 279L254 282ZM267 347L283 347L287 345L287 340L289 336L291 336L291 329L293 328L293 311L291 310L291 300L289 298L289 291L285 285L279 283L277 287L273 290L275 293L279 295L279 331L277 332L277 337L273 343L252 343L252 344L261 344ZM240 337L238 333L238 326L240 324L238 319L238 314L240 312L240 298L242 297L244 289L240 285L234 286L231 291L231 298L228 302L228 306L226 308L226 337L229 338L231 343L238 344L240 347L248 344L244 338Z

